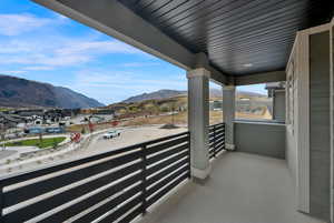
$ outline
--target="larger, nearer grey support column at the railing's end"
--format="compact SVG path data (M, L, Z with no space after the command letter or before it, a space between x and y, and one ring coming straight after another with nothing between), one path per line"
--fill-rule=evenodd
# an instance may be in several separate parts
M210 72L198 68L187 72L188 129L190 131L191 174L205 180L210 172L208 155L209 80Z

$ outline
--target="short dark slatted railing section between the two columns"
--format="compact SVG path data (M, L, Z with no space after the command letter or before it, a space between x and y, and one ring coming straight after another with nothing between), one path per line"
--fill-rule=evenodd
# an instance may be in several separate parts
M225 123L209 126L209 159L225 150Z

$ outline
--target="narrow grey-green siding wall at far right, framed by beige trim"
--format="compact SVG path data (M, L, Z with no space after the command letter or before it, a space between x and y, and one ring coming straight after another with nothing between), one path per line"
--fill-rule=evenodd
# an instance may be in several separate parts
M330 31L310 36L310 210L330 220Z

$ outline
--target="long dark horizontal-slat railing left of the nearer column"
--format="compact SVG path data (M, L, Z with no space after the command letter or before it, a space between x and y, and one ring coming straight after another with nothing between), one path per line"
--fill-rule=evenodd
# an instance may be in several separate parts
M0 222L128 223L189 178L185 132L3 178Z

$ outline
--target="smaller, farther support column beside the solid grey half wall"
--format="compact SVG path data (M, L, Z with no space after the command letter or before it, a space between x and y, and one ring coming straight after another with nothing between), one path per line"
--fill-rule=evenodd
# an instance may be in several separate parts
M223 87L223 115L225 122L225 149L235 150L234 120L235 120L235 87Z

